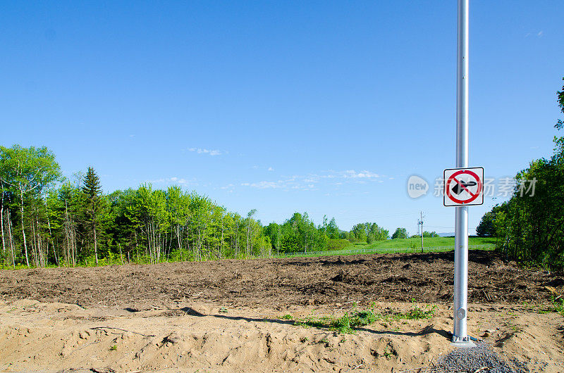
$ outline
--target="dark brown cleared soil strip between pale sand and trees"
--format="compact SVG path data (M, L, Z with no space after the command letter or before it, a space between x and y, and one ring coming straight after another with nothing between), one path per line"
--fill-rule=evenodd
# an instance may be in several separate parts
M470 303L548 301L551 294L544 286L564 286L561 275L519 269L492 251L470 251L469 261ZM453 297L453 253L8 270L0 276L5 301L27 298L81 306L145 308L205 300L285 308L412 298L448 303Z

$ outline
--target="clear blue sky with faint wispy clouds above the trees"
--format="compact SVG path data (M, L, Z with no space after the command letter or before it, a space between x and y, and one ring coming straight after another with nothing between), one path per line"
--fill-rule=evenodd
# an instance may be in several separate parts
M470 164L552 153L561 1L470 2ZM105 191L180 184L263 223L453 232L456 1L3 2L1 144ZM407 177L431 183L410 199ZM494 203L470 208L471 231Z

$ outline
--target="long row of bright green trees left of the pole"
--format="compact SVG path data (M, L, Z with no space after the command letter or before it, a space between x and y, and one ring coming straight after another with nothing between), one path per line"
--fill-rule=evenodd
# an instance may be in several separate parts
M0 146L0 186L1 263L10 267L268 257L338 250L389 234L374 222L350 232L334 218L314 225L307 213L263 226L257 210L241 216L178 186L104 194L93 167L63 178L46 147Z

